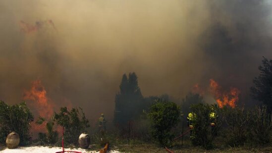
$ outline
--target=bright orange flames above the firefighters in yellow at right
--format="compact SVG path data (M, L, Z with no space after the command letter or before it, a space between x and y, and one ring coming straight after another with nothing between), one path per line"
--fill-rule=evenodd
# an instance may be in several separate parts
M237 88L230 88L229 93L222 93L220 88L215 80L210 79L210 91L214 95L218 106L221 108L224 105L228 105L234 108L239 100L240 91Z

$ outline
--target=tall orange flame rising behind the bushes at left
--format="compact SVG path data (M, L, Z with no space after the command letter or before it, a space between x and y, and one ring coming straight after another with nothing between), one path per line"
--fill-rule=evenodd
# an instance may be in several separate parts
M40 116L49 119L53 115L53 103L48 99L40 80L32 82L30 91L24 91L23 99L31 100L30 105L38 111Z

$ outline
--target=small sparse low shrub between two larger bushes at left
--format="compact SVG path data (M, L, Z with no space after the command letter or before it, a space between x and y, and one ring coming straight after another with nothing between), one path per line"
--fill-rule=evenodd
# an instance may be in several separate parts
M36 121L36 124L43 124L45 118L39 117ZM42 141L43 144L55 144L58 139L58 133L57 131L53 130L54 127L54 121L50 120L46 123L46 129L47 133L39 133L39 139Z

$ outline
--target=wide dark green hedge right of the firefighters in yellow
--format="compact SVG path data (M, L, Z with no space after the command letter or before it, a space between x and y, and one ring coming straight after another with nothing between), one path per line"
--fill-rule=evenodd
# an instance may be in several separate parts
M238 147L271 142L272 114L266 105L254 109L224 107L223 116L227 125L224 135L227 145Z

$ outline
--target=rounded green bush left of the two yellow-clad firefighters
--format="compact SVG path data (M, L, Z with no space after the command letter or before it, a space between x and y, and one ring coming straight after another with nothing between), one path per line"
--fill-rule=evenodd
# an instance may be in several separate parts
M158 101L151 106L148 114L151 120L151 134L162 146L171 146L171 128L180 120L180 108L174 102Z

